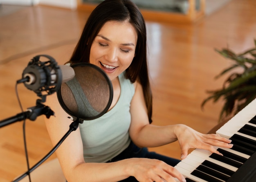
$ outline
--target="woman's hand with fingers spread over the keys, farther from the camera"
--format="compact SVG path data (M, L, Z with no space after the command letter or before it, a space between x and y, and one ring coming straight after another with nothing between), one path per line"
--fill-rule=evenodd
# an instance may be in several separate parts
M182 124L177 125L175 134L181 148L181 159L186 158L188 150L191 148L206 149L212 153L222 155L214 146L225 148L233 147L233 144L230 144L231 140L227 138L217 134L202 134L191 127Z

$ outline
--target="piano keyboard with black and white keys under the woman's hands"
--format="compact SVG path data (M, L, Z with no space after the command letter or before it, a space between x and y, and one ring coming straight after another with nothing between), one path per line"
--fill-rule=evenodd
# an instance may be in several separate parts
M256 99L216 134L231 139L234 146L216 147L223 156L195 149L175 168L187 182L256 182Z

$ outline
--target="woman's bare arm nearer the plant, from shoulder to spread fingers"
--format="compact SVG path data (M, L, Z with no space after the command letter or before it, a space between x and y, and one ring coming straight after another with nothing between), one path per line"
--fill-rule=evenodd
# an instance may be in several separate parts
M231 141L226 138L216 134L201 134L186 125L149 124L142 87L139 83L135 83L135 95L131 102L130 112L132 123L129 132L132 141L138 146L157 147L178 140L182 150L181 156L184 158L190 148L207 149L212 153L220 154L213 146L232 147L229 145Z

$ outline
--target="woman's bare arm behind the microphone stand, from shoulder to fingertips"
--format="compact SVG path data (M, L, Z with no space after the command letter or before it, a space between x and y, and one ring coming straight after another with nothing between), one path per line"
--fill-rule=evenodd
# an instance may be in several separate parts
M72 121L59 105L56 94L49 96L47 101L56 117L46 119L45 124L53 145L56 145ZM56 154L68 182L117 182L129 176L135 176L141 182L163 182L161 177L175 182L173 176L181 181L183 179L176 169L159 160L132 158L110 163L86 163L79 128L71 132L56 150Z

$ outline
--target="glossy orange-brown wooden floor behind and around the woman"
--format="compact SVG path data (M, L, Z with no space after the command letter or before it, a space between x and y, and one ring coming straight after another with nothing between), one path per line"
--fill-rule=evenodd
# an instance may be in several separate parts
M207 133L218 123L221 102L200 108L206 90L222 86L224 77L215 80L214 76L231 64L214 48L228 46L242 52L254 46L255 8L255 0L232 0L194 24L146 22L154 124L184 123ZM47 54L58 64L65 63L87 17L84 12L45 6L19 7L0 16L0 120L21 112L15 85L30 59ZM36 94L24 85L18 85L18 94L24 110L36 105ZM27 170L22 124L0 128L1 182L10 182ZM52 149L43 116L27 120L26 135L33 166ZM180 158L177 142L150 150Z

